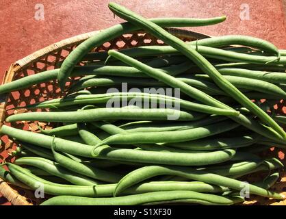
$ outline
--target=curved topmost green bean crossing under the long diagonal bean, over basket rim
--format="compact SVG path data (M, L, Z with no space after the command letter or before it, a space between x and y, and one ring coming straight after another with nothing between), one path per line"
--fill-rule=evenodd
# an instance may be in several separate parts
M185 26L193 26L193 25L211 25L215 23L220 23L225 20L225 16L219 18L209 18L209 19L188 19L188 18L155 18L151 19L158 25L163 27L185 27ZM73 69L77 65L78 62L81 61L82 57L86 55L91 49L94 47L99 47L104 42L112 40L117 36L121 36L122 34L126 34L128 32L136 31L140 28L131 25L130 23L120 23L119 25L115 25L113 27L109 27L104 31L100 31L95 36L92 36L88 40L85 40L79 46L73 50L68 57L64 60L60 73L57 76L59 80L60 88L64 90L64 86L66 83L66 79L70 76Z

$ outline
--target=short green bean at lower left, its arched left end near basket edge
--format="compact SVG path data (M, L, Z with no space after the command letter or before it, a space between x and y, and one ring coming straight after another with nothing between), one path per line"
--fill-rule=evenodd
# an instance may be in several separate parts
M62 166L60 166L59 164L42 157L21 157L16 159L14 164L29 165L41 168L42 170L49 172L51 175L66 179L67 181L75 185L97 184L97 182L92 179L70 172L69 170L62 168Z

